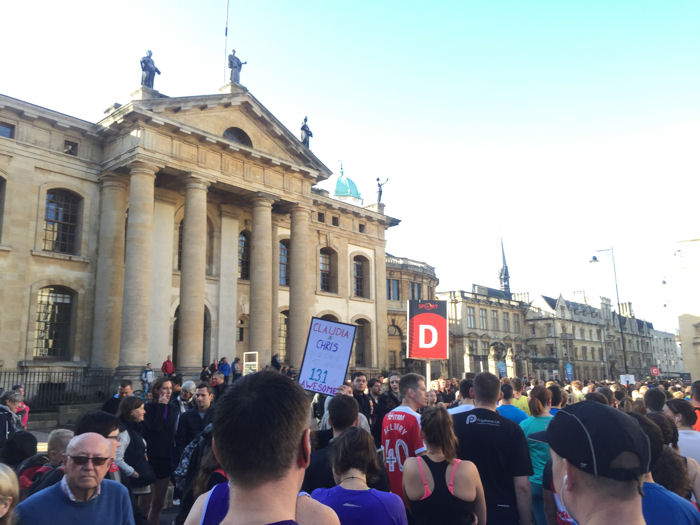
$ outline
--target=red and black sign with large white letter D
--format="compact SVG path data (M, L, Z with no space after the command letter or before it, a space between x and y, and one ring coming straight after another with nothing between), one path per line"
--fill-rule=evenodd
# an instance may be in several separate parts
M408 301L408 359L447 359L447 301Z

